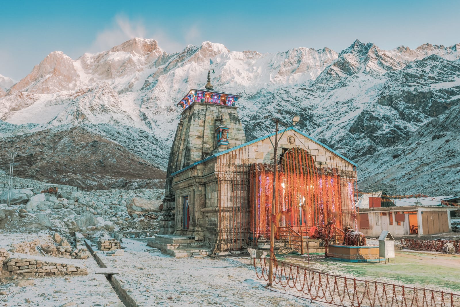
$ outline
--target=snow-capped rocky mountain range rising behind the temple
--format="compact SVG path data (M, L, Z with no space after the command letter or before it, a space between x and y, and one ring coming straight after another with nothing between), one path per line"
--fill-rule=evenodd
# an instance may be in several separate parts
M0 119L18 125L5 135L83 127L165 169L178 99L204 86L211 59L214 88L243 96L238 106L248 140L270 132L273 117L289 122L299 114L300 129L365 165L370 155L387 155L449 114L460 101L459 58L460 44L385 51L355 41L340 53L295 48L262 54L207 41L170 54L155 40L135 38L76 60L50 53L0 98ZM358 171L361 178L380 172ZM393 191L431 189L414 187ZM459 190L454 184L443 191Z

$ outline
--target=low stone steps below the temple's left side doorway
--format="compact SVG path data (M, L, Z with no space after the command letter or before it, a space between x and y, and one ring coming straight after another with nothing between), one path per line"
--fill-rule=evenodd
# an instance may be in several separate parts
M211 254L211 249L203 246L201 241L196 241L194 237L180 235L156 235L147 242L147 245L161 249L176 258L201 258Z

